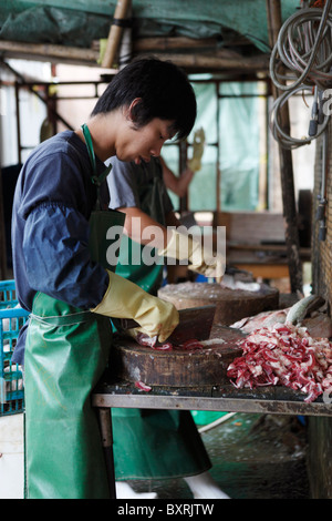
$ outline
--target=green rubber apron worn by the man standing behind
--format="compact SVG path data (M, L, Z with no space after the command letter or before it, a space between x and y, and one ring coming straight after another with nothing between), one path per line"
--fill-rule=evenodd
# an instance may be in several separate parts
M151 182L137 185L143 212L165 224L162 175L162 170L156 168ZM124 239L116 273L156 295L164 266L146 266L144 262L128 265L126 260L137 247L141 245ZM112 426L117 481L194 476L211 467L189 411L113 408Z

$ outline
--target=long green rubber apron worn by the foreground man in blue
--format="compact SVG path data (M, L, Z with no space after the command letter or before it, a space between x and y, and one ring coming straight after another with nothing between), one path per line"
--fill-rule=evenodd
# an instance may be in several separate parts
M86 145L93 153L89 131L86 127L84 131ZM120 225L123 216L117 214L94 212L90 222L94 234L104 241L114 221ZM94 238L98 245L97 237ZM93 255L106 257L100 248L92 251ZM106 267L114 269L114 266ZM42 293L35 295L24 360L29 499L110 498L91 392L108 362L111 344L107 317Z

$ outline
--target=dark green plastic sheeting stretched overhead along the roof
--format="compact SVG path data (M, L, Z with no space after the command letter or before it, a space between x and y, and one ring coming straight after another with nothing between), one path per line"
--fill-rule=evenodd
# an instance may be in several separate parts
M90 47L106 38L116 0L10 0L0 4L0 39ZM300 0L282 0L282 18ZM267 52L266 0L133 0L134 30L139 37L221 37L236 31Z

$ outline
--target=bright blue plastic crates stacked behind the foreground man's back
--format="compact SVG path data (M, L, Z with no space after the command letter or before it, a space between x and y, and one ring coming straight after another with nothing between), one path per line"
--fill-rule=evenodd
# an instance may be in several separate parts
M22 371L11 358L29 313L17 305L14 280L0 282L0 416L24 410Z

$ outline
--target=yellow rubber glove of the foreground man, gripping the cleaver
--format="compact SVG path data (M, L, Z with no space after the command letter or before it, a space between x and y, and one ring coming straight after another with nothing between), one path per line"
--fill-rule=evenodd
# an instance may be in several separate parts
M179 323L177 309L173 304L154 297L126 278L108 272L110 284L103 300L92 313L113 318L133 318L141 327L136 330L158 336L165 341Z

